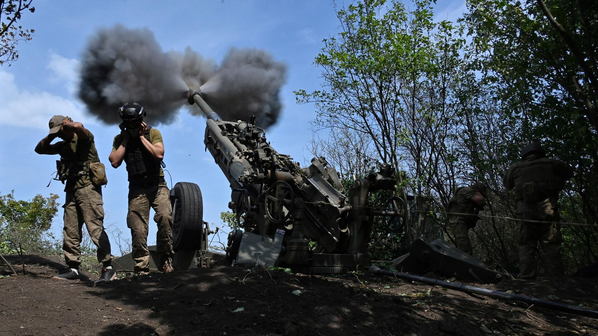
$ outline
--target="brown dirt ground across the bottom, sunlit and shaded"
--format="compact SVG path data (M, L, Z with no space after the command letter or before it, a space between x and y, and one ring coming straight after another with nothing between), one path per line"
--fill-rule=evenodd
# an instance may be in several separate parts
M53 280L62 258L7 256L0 335L598 335L598 320L371 274L216 267L94 286ZM99 268L99 265L98 265ZM0 265L0 275L11 274ZM274 283L276 282L276 283ZM598 309L593 279L484 288ZM242 310L242 311L239 311Z

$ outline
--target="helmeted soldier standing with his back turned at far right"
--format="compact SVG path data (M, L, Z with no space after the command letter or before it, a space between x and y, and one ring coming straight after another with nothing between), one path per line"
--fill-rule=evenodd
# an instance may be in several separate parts
M560 221L558 200L573 170L568 164L545 156L542 146L530 143L521 151L521 161L511 164L503 179L507 189L515 188L520 279L536 277L538 241L545 252L548 275L565 273L560 255L562 237L557 224Z

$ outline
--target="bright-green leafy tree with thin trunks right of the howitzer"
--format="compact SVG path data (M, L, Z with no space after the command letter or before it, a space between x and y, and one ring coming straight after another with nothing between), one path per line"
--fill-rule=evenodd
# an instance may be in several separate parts
M364 0L341 8L341 32L324 39L314 61L322 69L322 90L295 91L299 103L315 103L313 124L331 130L337 147L359 143L365 147L349 154L373 156L367 169L377 162L401 172L399 193L413 195L405 247L417 237L440 234L425 214L443 207L447 189L456 184L451 138L456 92L467 71L459 63L465 39L462 27L434 22L431 5L416 0L407 10L400 1ZM314 154L334 154L334 148L328 142ZM356 173L346 158L332 162L344 163L343 173Z

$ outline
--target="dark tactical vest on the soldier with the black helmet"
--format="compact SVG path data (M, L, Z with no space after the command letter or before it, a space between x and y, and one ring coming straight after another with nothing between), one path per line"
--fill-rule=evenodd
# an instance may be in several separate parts
M150 130L151 126L148 126L144 134L145 139L148 139L148 141ZM125 148L124 161L129 173L129 181L158 179L160 177L160 161L155 160L149 154L139 138L129 138L129 143Z

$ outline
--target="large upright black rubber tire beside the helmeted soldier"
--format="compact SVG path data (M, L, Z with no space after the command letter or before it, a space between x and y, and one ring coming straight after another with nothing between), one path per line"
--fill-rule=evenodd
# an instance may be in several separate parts
M172 248L199 250L203 239L202 190L190 182L178 182L172 189Z

